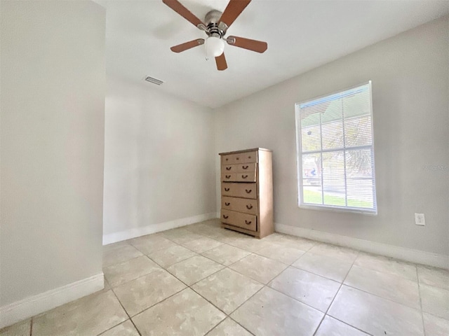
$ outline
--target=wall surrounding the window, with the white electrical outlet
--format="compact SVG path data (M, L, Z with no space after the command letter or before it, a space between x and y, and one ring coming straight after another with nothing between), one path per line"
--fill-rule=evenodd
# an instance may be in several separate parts
M216 152L273 150L276 223L449 255L449 172L422 169L449 165L448 31L430 22L218 109ZM299 209L295 103L367 80L378 216Z

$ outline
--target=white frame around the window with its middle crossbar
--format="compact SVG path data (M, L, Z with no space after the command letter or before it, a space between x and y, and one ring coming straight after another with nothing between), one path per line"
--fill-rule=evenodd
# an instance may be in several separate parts
M370 121L371 121L371 139L372 139L372 144L370 146L360 146L359 148L363 147L363 148L371 148L373 151L373 158L372 160L372 172L373 172L373 207L374 209L369 209L369 208L358 208L358 207L348 207L348 206L333 206L333 205L326 205L326 204L309 204L309 203L304 203L302 202L304 195L303 195L303 181L302 181L302 144L301 144L301 139L302 139L302 134L301 134L301 127L300 127L300 106L302 104L307 104L309 102L314 102L315 100L318 99L323 99L325 97L330 97L333 96L335 94L342 94L343 92L347 91L347 90L353 90L357 87L361 87L363 85L368 85L369 87L369 92L370 92ZM302 102L296 103L295 104L295 125L296 125L296 159L297 159L297 204L298 207L302 208L302 209L314 209L314 210L325 210L325 211L338 211L338 212L351 212L351 213L358 213L358 214L366 214L366 215L372 215L372 216L376 216L377 215L377 193L376 193L376 187L375 187L375 162L374 162L374 128L373 128L373 94L372 94L372 85L371 85L371 80L368 80L368 82L365 83L361 83L358 85L354 85L351 87L347 87L346 89L343 90L338 90L336 92L332 92L329 94L323 94L319 97L314 97L311 99L307 99L304 100ZM320 134L320 137L322 139L323 134ZM343 150L346 149L345 147L343 148L339 148L338 150ZM357 149L357 147L349 147L349 149ZM332 151L337 151L332 150ZM316 151L319 153L326 153L329 151L324 150L323 148L321 148L320 151ZM304 152L304 154L309 154L310 152ZM314 152L311 152L314 153ZM322 183L321 183L322 186ZM345 184L345 188L346 184Z

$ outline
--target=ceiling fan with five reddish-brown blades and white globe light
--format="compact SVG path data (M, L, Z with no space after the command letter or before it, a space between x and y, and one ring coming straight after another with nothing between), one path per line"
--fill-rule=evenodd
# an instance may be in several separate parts
M162 0L162 2L175 10L176 13L181 15L187 21L191 22L195 27L205 31L208 35L206 40L204 38L196 38L195 40L175 45L170 48L173 52L182 52L206 43L206 58L215 57L217 69L225 70L227 69L227 63L225 52L223 52L225 50L224 41L229 45L260 53L268 48L267 42L238 36L227 36L225 38L227 29L232 25L232 22L236 20L243 9L248 6L251 0L230 0L223 13L218 10L210 10L204 18L205 23L201 22L199 18L196 18L192 12L185 8L185 6L182 6L182 3L177 0Z

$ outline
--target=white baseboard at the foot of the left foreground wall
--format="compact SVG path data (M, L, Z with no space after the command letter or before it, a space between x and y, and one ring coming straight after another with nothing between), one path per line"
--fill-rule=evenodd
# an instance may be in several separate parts
M0 307L0 329L105 288L103 273Z

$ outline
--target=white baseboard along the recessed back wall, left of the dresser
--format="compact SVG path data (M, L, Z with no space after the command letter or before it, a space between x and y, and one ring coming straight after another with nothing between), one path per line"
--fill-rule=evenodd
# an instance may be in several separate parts
M161 232L169 229L180 228L181 226L216 218L215 216L217 216L215 212L211 212L209 214L180 218L176 219L175 221L147 225L142 228L132 228L125 231L109 233L108 235L103 235L103 245L112 244L116 243L117 241L132 239L140 236L151 235L152 233Z

